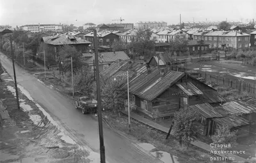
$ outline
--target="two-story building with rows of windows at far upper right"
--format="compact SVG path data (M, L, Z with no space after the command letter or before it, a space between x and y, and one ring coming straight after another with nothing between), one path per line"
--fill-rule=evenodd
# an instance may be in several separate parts
M239 31L207 31L194 34L194 40L204 40L211 48L248 48L250 34Z

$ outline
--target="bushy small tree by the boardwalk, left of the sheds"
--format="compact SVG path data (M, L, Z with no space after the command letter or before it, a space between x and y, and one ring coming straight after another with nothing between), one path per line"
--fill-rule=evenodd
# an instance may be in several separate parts
M198 120L198 113L194 109L184 107L175 112L173 118L173 136L179 139L180 146L182 146L182 143L188 146L191 141L194 141L200 136L200 128L196 120Z

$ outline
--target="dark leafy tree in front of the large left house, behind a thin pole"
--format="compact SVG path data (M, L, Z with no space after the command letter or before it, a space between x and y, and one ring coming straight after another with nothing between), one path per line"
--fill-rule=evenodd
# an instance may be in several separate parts
M71 62L64 61L65 59L70 59L72 57L72 65L73 65L73 73L78 73L79 69L83 66L81 62L81 52L77 52L74 46L64 45L61 47L60 52L60 60L63 62L62 70L63 72L71 72Z

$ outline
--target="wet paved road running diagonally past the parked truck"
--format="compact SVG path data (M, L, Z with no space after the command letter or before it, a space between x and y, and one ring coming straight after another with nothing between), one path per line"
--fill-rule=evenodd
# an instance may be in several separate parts
M0 55L1 63L6 71L13 76L12 62L3 53ZM40 104L54 119L61 122L67 129L70 137L79 145L90 146L93 152L99 153L98 122L92 115L83 115L75 110L72 101L60 93L45 87L37 81L35 76L27 73L21 67L15 66L17 82L28 90L36 103ZM106 159L109 163L156 163L152 155L138 148L131 140L111 131L104 125L104 145Z

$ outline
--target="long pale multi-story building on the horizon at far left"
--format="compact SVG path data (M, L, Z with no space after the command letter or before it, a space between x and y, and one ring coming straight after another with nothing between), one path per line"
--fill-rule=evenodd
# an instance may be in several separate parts
M44 32L44 31L62 31L61 24L29 24L20 26L25 31Z

